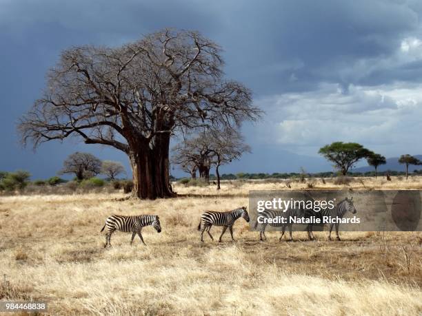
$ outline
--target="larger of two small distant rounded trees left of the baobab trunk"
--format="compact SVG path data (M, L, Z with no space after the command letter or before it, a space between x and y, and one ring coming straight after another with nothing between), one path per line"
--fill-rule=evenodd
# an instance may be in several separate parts
M59 174L74 173L78 180L92 178L101 172L101 160L92 154L76 152L64 160Z

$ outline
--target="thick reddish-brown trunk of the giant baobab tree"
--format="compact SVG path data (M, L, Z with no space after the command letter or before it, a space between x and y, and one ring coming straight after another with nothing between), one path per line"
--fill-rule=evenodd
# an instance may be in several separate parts
M151 149L148 144L130 151L133 173L132 196L141 199L173 198L170 187L168 147L170 137L159 137Z

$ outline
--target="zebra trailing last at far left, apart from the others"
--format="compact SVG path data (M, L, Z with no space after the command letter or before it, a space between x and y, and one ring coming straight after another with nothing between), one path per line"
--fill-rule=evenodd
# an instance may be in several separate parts
M141 230L142 227L150 225L152 225L152 227L154 227L157 232L161 233L161 224L157 215L111 215L109 218L107 218L103 229L101 229L101 231L103 231L107 227L106 245L104 248L106 248L107 244L111 246L110 238L112 233L116 230L123 231L124 233L132 232L132 239L130 240L130 244L132 244L136 234L139 235L142 243L145 244Z

